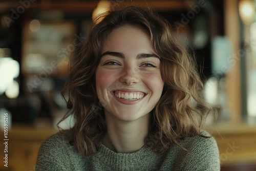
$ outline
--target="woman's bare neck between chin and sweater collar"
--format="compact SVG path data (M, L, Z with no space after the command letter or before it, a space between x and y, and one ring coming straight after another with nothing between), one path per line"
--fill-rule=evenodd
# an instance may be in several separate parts
M134 121L122 121L105 114L107 132L102 143L117 153L133 153L144 145L150 114Z

